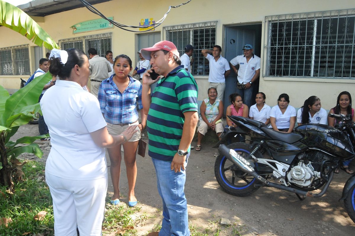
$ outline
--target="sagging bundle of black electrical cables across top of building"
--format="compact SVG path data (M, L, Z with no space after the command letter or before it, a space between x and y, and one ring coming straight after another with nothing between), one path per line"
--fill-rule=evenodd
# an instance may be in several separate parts
M168 16L168 14L169 14L171 8L178 8L178 7L182 6L182 5L185 5L185 4L188 4L189 2L191 2L191 0L189 0L189 1L185 2L185 3L181 3L181 4L178 5L178 6L169 6L169 10L164 14L163 18L161 18L159 21L157 21L157 22L155 22L155 23L151 23L150 25L147 25L147 26L128 26L128 25L124 25L124 24L121 24L121 23L119 23L119 22L116 22L116 21L114 21L114 20L111 20L111 19L107 18L106 16L104 16L104 14L102 14L99 10L97 10L95 7L93 7L93 6L92 6L91 4L89 4L87 1L85 1L85 0L79 0L79 1L81 1L81 3L82 3L89 11L91 11L91 12L93 12L94 14L99 15L100 17L104 18L105 20L111 22L114 26L119 27L119 28L122 29L122 30L130 31L130 32L147 32L147 31L151 31L151 30L153 30L154 28L160 26L160 25L164 22L166 16ZM125 27L128 27L128 28L143 28L143 29L148 28L148 27L152 27L152 28L149 28L148 30L144 30L144 31L135 31L135 30L126 29Z

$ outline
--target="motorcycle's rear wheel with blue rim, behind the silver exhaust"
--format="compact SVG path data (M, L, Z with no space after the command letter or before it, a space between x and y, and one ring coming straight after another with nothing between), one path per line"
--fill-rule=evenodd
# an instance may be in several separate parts
M239 155L247 158L247 155L252 152L249 145L246 143L232 143L227 145L228 148L234 149ZM254 154L257 158L262 158L260 152ZM242 171L233 162L228 160L222 154L217 156L214 163L214 175L219 186L231 195L245 197L257 191L260 186L256 186L256 179Z

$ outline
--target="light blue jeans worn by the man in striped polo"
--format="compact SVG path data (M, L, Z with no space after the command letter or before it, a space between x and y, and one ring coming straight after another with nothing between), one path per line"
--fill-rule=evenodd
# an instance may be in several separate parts
M186 155L185 166L190 152ZM186 171L175 173L171 162L152 158L157 174L157 188L163 200L163 222L159 236L189 236L187 200L184 193ZM171 219L171 221L170 221Z

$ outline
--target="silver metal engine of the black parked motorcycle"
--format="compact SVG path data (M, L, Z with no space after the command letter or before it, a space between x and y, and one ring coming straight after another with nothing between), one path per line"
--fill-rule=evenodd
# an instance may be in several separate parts
M312 162L306 165L303 161L299 161L296 166L292 167L287 173L289 183L294 183L302 187L310 187L315 179L321 178L321 172L314 170Z

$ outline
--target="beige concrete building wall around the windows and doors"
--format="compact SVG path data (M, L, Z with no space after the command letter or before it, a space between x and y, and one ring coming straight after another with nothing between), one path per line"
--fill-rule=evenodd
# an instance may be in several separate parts
M97 4L95 7L106 16L113 16L115 21L125 25L138 25L141 18L153 17L155 21L163 17L169 5L179 5L185 0L156 0L138 1L131 0L129 3L113 0ZM327 11L338 9L354 8L354 1L331 1L331 0L249 0L247 2L231 0L192 0L185 6L178 9L171 9L164 23L155 29L161 32L163 26L181 25L187 23L197 23L205 21L218 21L216 43L224 48L225 26L244 25L245 23L262 23L262 47L264 46L265 28L264 17L268 15L294 14L298 12ZM109 30L100 30L73 34L70 26L76 23L97 19L99 16L89 12L86 8L75 9L43 17L39 25L55 39L74 38L85 35L112 32L112 50L115 55L127 54L135 63L135 52L137 50L137 33L127 32L117 27ZM162 39L165 39L165 33ZM20 34L8 28L0 27L0 47L29 44L34 46ZM43 50L45 52L45 50ZM45 53L44 53L45 54ZM222 53L223 54L223 53ZM339 92L355 90L352 80L332 80L332 79L294 79L294 78L268 78L264 77L266 49L262 49L260 91L267 95L267 103L271 106L276 103L280 93L286 92L290 95L291 105L300 107L304 100L317 95L321 98L323 107L329 109L335 105L335 100ZM37 68L31 65L31 73ZM6 88L18 88L20 81L18 78L25 76L0 76L0 85ZM199 85L198 100L203 100L207 96L207 76L195 76ZM354 94L355 97L355 94ZM354 98L355 99L355 98Z

